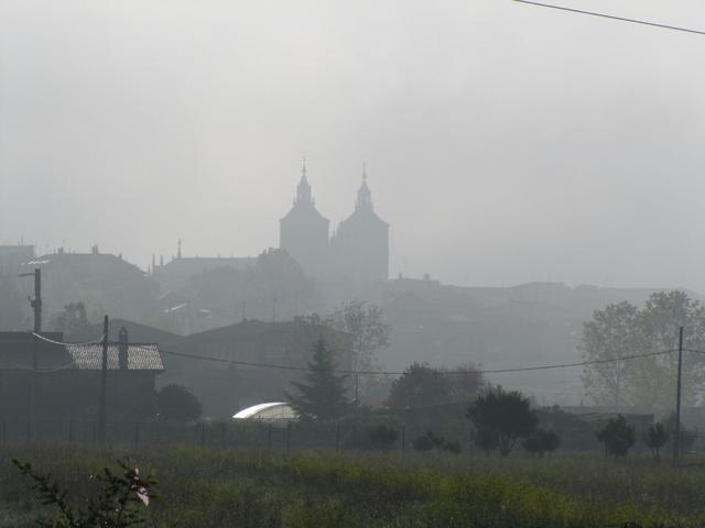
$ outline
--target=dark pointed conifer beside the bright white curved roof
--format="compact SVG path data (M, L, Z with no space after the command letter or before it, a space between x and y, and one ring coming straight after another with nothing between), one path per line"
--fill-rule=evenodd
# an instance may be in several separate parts
M296 394L286 394L291 406L303 419L328 421L350 410L346 397L345 378L333 372L335 363L326 341L321 338L313 348L305 382L293 382Z

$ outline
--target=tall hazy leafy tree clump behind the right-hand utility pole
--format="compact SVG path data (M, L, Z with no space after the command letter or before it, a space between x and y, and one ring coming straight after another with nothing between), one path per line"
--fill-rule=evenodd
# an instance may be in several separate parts
M685 346L705 349L705 307L683 292L660 292L642 309L621 302L595 311L585 322L579 349L587 365L583 383L603 405L639 405L666 410L675 394L679 327L685 329ZM625 355L644 355L629 361L609 361ZM705 355L685 354L683 399L694 405L703 396Z

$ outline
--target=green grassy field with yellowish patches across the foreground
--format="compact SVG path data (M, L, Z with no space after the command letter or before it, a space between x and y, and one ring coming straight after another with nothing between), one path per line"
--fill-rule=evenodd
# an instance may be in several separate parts
M592 454L467 454L78 447L0 448L0 527L41 507L12 458L51 472L77 502L129 458L158 481L153 527L699 527L705 468ZM632 525L630 525L630 522Z

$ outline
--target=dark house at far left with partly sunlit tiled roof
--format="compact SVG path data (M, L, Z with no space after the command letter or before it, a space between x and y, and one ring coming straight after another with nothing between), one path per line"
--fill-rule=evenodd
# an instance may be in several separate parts
M0 332L0 416L26 420L95 420L100 391L100 344L63 343L59 332ZM130 343L127 332L108 346L108 421L154 416L159 346ZM36 373L36 374L35 374Z

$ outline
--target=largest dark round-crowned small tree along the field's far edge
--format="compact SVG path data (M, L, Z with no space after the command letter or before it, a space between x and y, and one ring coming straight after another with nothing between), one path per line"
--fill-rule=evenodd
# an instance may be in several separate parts
M501 387L488 391L471 404L467 418L477 428L497 431L499 452L507 457L519 438L530 436L539 425L529 398L518 391L506 392Z

